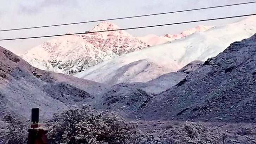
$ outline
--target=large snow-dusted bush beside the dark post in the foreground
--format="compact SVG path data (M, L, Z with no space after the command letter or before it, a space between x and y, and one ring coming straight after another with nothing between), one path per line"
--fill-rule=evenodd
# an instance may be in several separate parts
M160 144L153 135L139 131L136 122L88 106L56 115L49 125L52 144Z

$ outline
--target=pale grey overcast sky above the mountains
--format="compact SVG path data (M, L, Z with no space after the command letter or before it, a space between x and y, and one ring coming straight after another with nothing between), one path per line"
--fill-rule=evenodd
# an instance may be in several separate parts
M254 0L0 0L0 30L129 17L249 1ZM256 4L247 4L143 18L115 20L111 22L114 22L121 28L158 25L251 14L256 13L255 7ZM238 19L144 28L140 30L128 30L128 32L135 36L143 36L146 34L165 35L167 33L180 33L183 30L196 27L197 25L221 25L237 21ZM0 39L65 34L67 32L84 32L90 30L98 23L99 22L0 32ZM0 45L19 54L48 39L52 38L0 41Z

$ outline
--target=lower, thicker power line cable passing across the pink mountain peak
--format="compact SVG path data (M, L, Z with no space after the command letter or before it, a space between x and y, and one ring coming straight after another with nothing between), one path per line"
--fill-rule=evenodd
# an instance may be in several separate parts
M176 23L162 24L162 25L152 25L152 26L141 26L141 27L122 28L122 29L117 29L117 30L105 30L105 31L96 31L96 32L83 32L83 33L57 34L57 35L44 35L44 36L38 36L38 37L25 37L25 38L0 39L0 41L19 40L19 39L34 39L34 38L46 38L46 37L59 37L59 36L64 36L64 35L76 35L76 34L112 32L112 31L121 31L121 30L133 30L133 29L140 29L140 28L149 28L149 27L160 27L160 26L169 26L169 25L186 24L186 23L192 23L192 22L201 22L201 21L210 21L210 20L220 20L220 19L230 19L230 18L248 17L248 16L252 16L252 15L256 15L256 14L247 14L247 15L237 15L237 16L232 16L232 17L222 17L222 18L214 18L214 19L204 19L204 20L195 20L195 21L176 22Z

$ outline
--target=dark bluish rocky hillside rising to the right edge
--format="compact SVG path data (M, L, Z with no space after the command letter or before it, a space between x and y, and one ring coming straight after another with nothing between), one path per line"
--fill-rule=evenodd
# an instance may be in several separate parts
M256 34L232 43L141 111L146 119L256 123Z

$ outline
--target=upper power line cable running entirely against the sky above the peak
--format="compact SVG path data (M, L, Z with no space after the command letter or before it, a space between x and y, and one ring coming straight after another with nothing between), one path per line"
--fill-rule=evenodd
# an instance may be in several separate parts
M210 8L218 8L218 7L228 7L228 6L236 6L236 5L253 4L253 3L256 3L256 1L244 2L244 3L239 3L239 4L222 5L222 6L213 6L213 7L204 7L204 8L196 8L196 9L187 9L187 10L182 10L182 11L173 11L173 12L165 12L165 13L155 13L155 14L137 15L137 16L132 16L132 17L121 17L121 18L113 18L113 19L102 19L102 20L94 20L94 21L83 21L83 22L74 22L74 23L58 24L58 25L47 25L47 26L37 26L37 27L14 28L14 29L0 30L0 32L5 32L5 31L17 31L17 30L27 30L27 29L43 28L43 27L55 27L55 26L85 24L85 23L99 22L99 21L109 21L109 20L120 20L120 19L130 19L130 18L148 17L148 16L153 16L153 15L162 15L162 14L171 14L171 13L179 13L179 12L197 11L197 10L202 10L202 9L210 9Z

